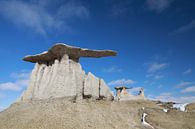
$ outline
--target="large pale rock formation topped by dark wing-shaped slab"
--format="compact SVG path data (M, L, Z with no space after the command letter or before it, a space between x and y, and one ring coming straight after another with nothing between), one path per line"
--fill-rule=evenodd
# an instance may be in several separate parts
M77 100L113 99L103 79L82 69L80 57L115 56L111 50L88 50L66 44L56 44L47 52L24 57L24 61L36 63L29 86L19 101L71 97Z

